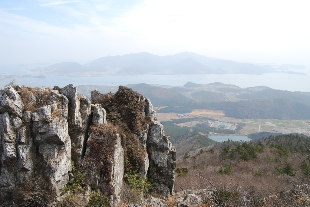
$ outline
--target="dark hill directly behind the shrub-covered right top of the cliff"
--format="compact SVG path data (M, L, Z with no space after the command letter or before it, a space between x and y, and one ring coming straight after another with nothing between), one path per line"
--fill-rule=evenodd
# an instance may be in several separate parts
M131 88L138 93L143 94L145 97L151 100L153 106L182 106L190 102L193 102L191 98L183 96L181 93L169 90L167 88L161 88L156 86L150 86L148 84L129 84L126 87Z

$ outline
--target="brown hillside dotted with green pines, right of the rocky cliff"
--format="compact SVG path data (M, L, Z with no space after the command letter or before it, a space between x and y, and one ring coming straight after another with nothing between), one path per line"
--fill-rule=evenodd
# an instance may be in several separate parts
M179 160L175 189L221 189L216 206L310 206L309 147L309 138L280 135L197 149Z

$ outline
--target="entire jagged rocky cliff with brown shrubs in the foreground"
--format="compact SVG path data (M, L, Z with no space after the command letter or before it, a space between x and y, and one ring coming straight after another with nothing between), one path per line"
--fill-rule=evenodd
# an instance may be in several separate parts
M172 194L175 148L139 93L120 86L116 94L92 91L90 101L71 84L7 86L0 101L0 202L56 205L73 168L111 206L124 178L148 178L155 192Z

